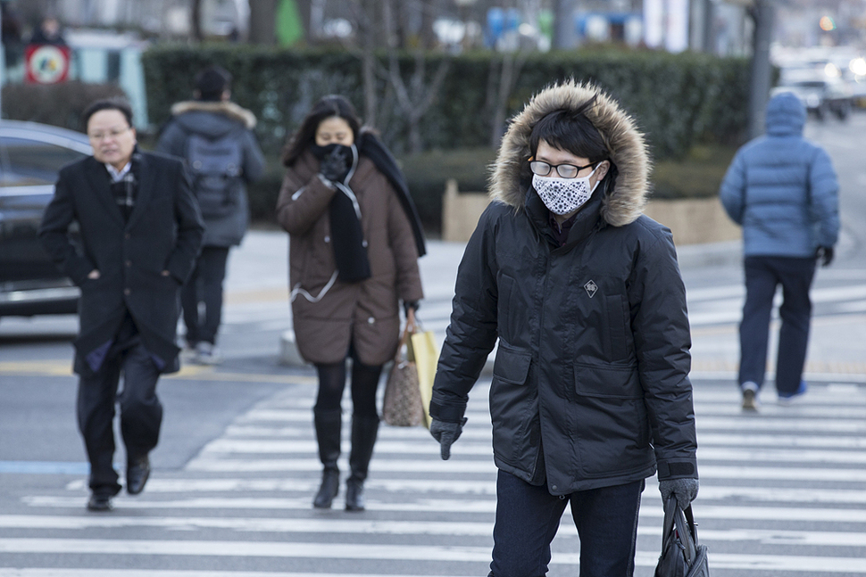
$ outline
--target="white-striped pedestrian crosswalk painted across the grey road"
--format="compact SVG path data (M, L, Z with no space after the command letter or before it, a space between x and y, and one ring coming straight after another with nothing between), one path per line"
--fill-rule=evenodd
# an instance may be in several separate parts
M368 509L375 514L369 518L347 518L340 511L305 518L315 515L310 499L321 464L312 440L313 391L304 387L279 393L238 417L220 438L189 461L180 478L161 477L157 470L144 495L116 499L115 515L78 513L83 503L80 495L87 490L81 479L69 482L65 495L22 498L22 504L29 507L28 515L0 515L0 551L18 558L30 556L37 563L45 556L68 559L86 556L91 550L94 555L107 552L116 558L415 560L453 563L457 564L454 572L467 573L461 571L461 563L489 562L495 512L487 390L482 384L472 392L470 425L454 445L449 461L438 458L437 444L425 429L382 427L367 482ZM702 480L695 515L703 523L700 536L711 548L714 573L866 574L866 560L851 555L866 547L866 467L862 466L866 394L862 387L844 384L820 385L812 394L814 403L790 408L768 404L754 416L740 411L735 387L702 390L701 383L695 386ZM812 489L799 487L799 482L826 484ZM636 558L640 577L651 574L658 560L662 507L654 479L647 480L643 501ZM69 515L67 509L76 514ZM129 514L117 515L123 511ZM573 573L579 565L579 541L569 514L562 523L563 530L554 540L552 577ZM837 531L839 523L850 531ZM809 530L812 527L820 530ZM135 535L138 528L150 528L146 534L151 537L159 535L154 530L162 529L172 539L79 538L99 529L103 530L98 534L101 537L105 530L126 529L123 534ZM33 538L39 531L54 533ZM217 538L196 539L208 531ZM256 533L269 540L257 540L261 537L255 537ZM332 535L342 537L339 542L317 542ZM419 546L406 541L412 535L428 539ZM356 542L361 539L366 542ZM759 547L762 554L750 553L757 553ZM763 555L776 551L781 552ZM435 565L430 566L436 571ZM399 566L395 569L400 571ZM143 577L133 569L111 573L47 568L9 571L0 569L0 577ZM367 574L364 571L341 574L362 577ZM147 574L203 577L190 571ZM206 574L327 577L327 573L291 572Z

